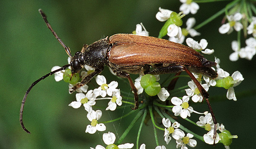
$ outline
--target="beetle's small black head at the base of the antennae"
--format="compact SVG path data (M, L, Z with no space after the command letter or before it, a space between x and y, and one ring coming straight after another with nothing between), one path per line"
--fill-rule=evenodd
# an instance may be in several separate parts
M76 52L74 56L71 57L70 66L71 73L77 73L83 68L84 62L82 58L83 54L81 52Z

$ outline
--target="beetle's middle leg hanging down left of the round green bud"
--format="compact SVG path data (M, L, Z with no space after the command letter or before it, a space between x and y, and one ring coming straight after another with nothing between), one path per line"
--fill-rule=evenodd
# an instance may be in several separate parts
M131 77L130 77L130 74L129 73L126 73L124 71L113 71L114 73L116 73L116 76L119 76L121 78L127 78L129 83L130 83L130 86L131 86L131 90L134 92L134 107L131 108L132 110L137 110L138 107L139 107L139 97L138 97L138 90L137 88L135 87L134 85L134 82L132 81Z

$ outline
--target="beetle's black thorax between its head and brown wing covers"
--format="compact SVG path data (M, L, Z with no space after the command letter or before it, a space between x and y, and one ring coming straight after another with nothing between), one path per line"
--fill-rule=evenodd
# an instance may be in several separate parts
M83 53L84 64L91 67L102 67L107 64L106 53L110 48L108 37L89 45Z

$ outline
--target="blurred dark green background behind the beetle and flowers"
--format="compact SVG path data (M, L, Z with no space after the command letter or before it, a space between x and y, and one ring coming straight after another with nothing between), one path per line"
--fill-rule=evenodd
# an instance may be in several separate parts
M157 37L163 25L163 22L155 19L158 8L179 12L180 4L178 0L122 2L120 0L1 0L0 148L88 149L97 144L104 144L100 140L102 132L96 132L93 135L84 132L89 124L86 112L83 108L75 110L67 106L75 100L75 94L70 95L67 91L67 83L55 82L53 76L38 83L27 98L23 121L31 135L20 127L20 104L27 88L32 82L48 73L53 66L67 64L67 54L45 25L38 13L39 8L42 8L47 14L52 28L74 54L81 50L83 44L90 44L117 33L131 33L135 30L136 24L140 22L143 22L150 36ZM184 20L195 17L198 24L226 4L226 2L199 4L198 13L189 14ZM212 56L207 56L209 60L214 60L214 56L216 56L221 59L221 67L230 75L239 70L244 76L244 81L235 87L238 101L226 99L215 102L216 97L226 95L227 91L223 88L210 89L209 94L213 97L211 103L217 121L224 123L226 129L239 136L238 139L233 140L230 147L232 149L248 148L254 146L253 143L256 139L254 135L256 132L256 58L254 57L251 61L239 59L236 62L230 62L228 57L233 52L231 42L236 40L236 32L230 35L218 33L222 17L223 15L200 28L198 31L201 36L194 39L205 38L209 42L207 48L215 49ZM106 69L103 75L108 73L109 71ZM108 76L108 83L116 79L115 76ZM133 78L136 77L133 76ZM186 79L186 82L188 80ZM181 85L186 85L186 83ZM126 87L126 90L129 91L130 88ZM206 103L195 104L193 107L207 110ZM130 111L129 107L127 111ZM109 113L109 115L105 114L103 120L117 117L113 115L115 112L104 113ZM194 120L197 121L197 118ZM107 130L115 127L121 136L128 124L129 119L125 118L120 124L117 122L106 126ZM123 143L135 142L136 137L134 136L137 136L137 130L138 126L134 127ZM147 149L153 149L155 143L151 123L143 128L142 133L140 144L145 143ZM167 149L176 148L174 142L169 145L163 142L163 132L159 132L158 135L160 143ZM213 147L198 141L196 148L218 149L224 148L224 146L218 144Z

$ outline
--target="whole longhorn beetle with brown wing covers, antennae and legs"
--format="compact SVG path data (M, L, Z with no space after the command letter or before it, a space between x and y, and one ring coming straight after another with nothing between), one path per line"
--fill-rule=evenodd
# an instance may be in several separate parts
M207 102L214 123L214 138L216 137L217 121L208 100L209 94L191 73L201 73L214 79L218 76L218 74L211 68L216 65L215 62L208 61L203 55L185 45L171 42L166 39L144 37L134 34L115 34L109 38L106 37L105 39L96 41L91 45L84 45L81 52L76 52L75 55L72 56L70 48L67 47L55 31L53 31L44 12L41 9L38 11L43 17L47 27L52 31L52 34L64 47L68 56L71 58L71 62L68 65L62 66L58 70L42 76L40 79L32 83L26 91L20 107L20 124L23 130L27 133L30 134L23 124L23 108L26 97L35 84L58 71L65 70L69 66L71 66L72 74L79 72L84 65L89 65L95 68L93 73L85 76L84 79L75 86L76 88L79 88L87 84L94 76L101 73L104 66L107 65L113 70L116 76L128 79L131 89L134 92L135 106L132 108L133 110L138 109L139 102L137 89L134 86L129 73L156 75L186 71L186 73L195 82L198 90Z

